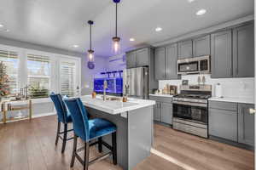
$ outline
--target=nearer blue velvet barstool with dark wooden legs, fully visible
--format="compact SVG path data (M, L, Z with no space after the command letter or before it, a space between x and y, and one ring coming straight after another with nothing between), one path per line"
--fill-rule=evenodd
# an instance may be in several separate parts
M105 157L113 155L113 164L117 164L117 150L116 150L116 126L112 122L108 122L102 118L88 119L87 112L84 105L79 98L64 99L67 105L67 109L71 113L73 120L74 129L74 140L73 140L73 156L70 167L73 167L75 158L84 165L84 170L88 170L91 163L98 160L102 160ZM103 136L112 134L112 146L102 140ZM84 141L84 161L78 155L78 152L82 149L77 150L78 137ZM97 139L97 140L96 140ZM93 142L96 141L96 142ZM89 150L91 145L98 144L99 152L102 152L102 144L108 148L108 153L103 154L96 159L89 161Z

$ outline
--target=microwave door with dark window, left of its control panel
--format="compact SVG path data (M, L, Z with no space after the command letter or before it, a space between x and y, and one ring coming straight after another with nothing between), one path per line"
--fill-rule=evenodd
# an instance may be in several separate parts
M199 61L191 61L188 63L178 63L177 64L177 73L195 73L199 71Z

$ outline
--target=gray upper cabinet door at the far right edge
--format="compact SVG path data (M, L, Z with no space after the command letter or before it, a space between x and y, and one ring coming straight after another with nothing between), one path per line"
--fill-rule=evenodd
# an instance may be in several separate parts
M233 76L254 77L254 26L233 30Z

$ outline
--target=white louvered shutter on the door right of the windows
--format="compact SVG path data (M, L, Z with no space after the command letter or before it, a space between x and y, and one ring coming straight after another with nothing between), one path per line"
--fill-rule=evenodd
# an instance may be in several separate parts
M61 62L61 94L74 96L76 94L76 64L72 61Z

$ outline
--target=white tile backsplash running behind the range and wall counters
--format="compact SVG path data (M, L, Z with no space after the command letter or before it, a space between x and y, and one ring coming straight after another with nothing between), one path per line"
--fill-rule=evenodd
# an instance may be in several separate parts
M215 96L215 85L220 83L222 86L222 95L230 98L254 98L254 78L218 78L212 79L210 75L200 75L206 77L206 84L212 85L212 96ZM181 80L162 80L159 81L159 88L164 88L166 84L178 87L182 84L182 80L189 80L189 84L197 84L199 75L182 76Z

